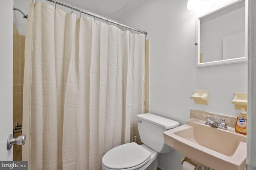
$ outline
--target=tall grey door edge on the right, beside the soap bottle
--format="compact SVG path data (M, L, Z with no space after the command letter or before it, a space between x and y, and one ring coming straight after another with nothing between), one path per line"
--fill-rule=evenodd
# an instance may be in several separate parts
M256 170L256 1L249 0L247 170Z

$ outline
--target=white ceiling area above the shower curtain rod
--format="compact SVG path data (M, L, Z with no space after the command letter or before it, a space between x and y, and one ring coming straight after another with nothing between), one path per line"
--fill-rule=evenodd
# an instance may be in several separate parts
M60 0L71 6L81 8L88 12L118 20L126 14L130 14L142 2L146 0Z

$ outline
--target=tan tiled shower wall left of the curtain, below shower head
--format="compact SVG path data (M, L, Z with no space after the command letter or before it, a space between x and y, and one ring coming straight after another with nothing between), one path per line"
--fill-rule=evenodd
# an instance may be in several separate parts
M13 26L13 126L22 124L25 36ZM21 133L15 133L18 137ZM21 146L13 145L13 160L21 160Z

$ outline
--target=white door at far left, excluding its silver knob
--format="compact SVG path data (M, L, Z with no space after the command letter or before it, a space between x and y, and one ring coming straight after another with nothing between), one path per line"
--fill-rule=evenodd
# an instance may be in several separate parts
M13 160L7 150L12 134L13 0L0 0L0 160Z

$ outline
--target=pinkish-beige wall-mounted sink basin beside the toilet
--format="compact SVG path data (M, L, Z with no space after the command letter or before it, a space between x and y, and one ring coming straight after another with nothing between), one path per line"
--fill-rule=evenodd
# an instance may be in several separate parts
M191 118L185 125L164 132L164 142L196 164L214 170L244 170L246 135L210 127Z

